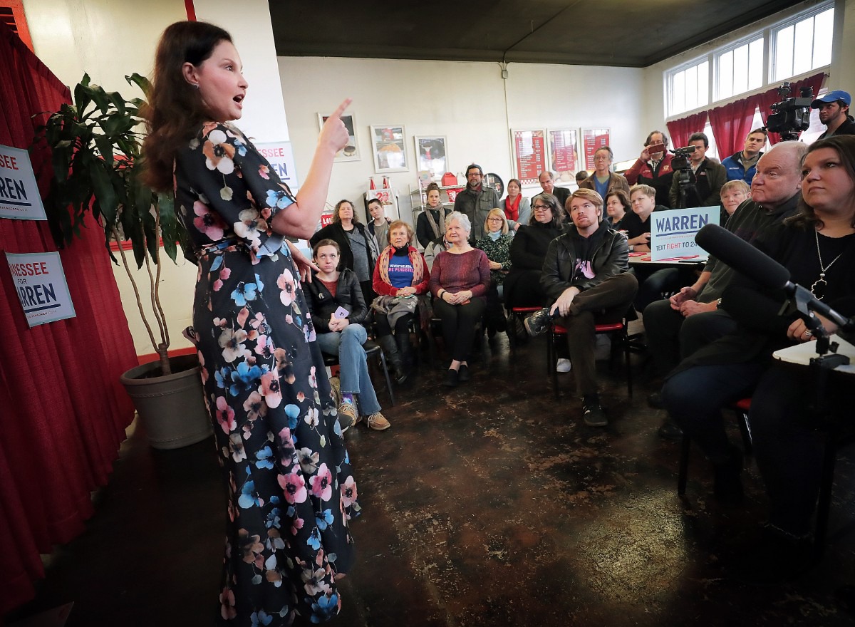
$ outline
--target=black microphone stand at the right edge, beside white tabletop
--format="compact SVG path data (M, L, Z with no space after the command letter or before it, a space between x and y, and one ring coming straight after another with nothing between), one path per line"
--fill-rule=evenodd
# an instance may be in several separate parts
M823 467L820 475L819 503L817 505L817 528L814 534L814 550L818 561L823 556L825 541L828 536L828 510L831 506L831 486L834 481L834 462L837 457L836 444L843 426L839 420L833 419L828 407L826 392L828 373L838 366L849 364L849 358L837 353L840 345L831 341L828 331L823 327L823 322L814 313L813 310L818 301L813 293L800 285L791 285L793 287L787 286L790 297L787 304L784 305L784 310L798 311L807 328L811 330L813 337L817 338L817 357L811 358L809 367L814 381L814 401L810 409L811 427L825 432ZM834 314L831 317L836 318L834 322L838 323L840 328L852 325L852 320L846 320L833 310L831 312ZM843 321L842 324L839 323L840 320Z

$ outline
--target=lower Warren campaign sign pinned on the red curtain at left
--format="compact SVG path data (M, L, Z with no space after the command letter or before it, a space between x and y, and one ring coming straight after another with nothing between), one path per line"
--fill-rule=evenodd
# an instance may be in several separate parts
M58 252L7 252L6 261L31 328L76 316Z

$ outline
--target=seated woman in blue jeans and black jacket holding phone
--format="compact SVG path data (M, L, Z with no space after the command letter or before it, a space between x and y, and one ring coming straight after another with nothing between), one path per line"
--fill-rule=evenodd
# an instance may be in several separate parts
M312 259L320 271L312 273L312 281L304 282L303 291L308 297L306 305L321 352L339 356L341 430L346 431L363 416L370 429L388 429L389 421L380 413L363 349L368 334L362 322L368 315L368 307L357 275L349 268L339 271L339 245L333 240L317 242L312 248ZM345 310L345 315L337 315L339 308Z

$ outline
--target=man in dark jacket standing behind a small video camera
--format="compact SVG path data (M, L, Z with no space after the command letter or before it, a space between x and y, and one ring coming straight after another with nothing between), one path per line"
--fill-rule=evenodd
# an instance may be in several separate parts
M719 193L722 191L722 185L727 182L728 174L720 163L706 158L710 140L704 133L693 133L687 147L694 148L694 151L688 154L686 168L676 167L675 161L679 161L676 157L671 161L675 173L668 194L669 203L675 209L717 207ZM677 151L678 154L679 152L680 150Z

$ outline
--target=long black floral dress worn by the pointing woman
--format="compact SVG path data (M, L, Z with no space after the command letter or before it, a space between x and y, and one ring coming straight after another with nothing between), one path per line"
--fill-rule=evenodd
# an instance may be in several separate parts
M175 207L198 257L192 336L227 476L221 624L339 612L357 486L288 246L291 192L239 130L210 122L175 160Z

